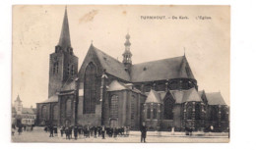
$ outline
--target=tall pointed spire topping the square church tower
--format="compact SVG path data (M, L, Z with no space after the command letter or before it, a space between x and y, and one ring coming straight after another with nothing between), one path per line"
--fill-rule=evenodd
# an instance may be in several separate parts
M61 28L58 45L64 51L66 51L68 47L71 47L67 6L65 7L65 14L64 14L64 19L63 19L63 24L62 24L62 28Z

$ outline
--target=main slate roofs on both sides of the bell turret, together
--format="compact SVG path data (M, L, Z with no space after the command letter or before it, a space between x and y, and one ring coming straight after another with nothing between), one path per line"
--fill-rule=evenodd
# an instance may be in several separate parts
M170 78L194 78L185 56L132 65L129 75L125 71L123 63L97 49L93 44L90 49L96 52L96 56L107 74L127 81L144 82Z

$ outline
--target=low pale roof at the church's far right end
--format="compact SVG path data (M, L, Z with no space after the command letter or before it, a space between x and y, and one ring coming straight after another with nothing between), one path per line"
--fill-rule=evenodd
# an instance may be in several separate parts
M226 105L221 92L206 93L209 105Z

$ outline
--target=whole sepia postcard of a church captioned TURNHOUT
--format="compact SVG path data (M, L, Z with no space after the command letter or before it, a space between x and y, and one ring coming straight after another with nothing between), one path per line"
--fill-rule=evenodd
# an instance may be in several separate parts
M13 5L12 142L228 143L230 6Z

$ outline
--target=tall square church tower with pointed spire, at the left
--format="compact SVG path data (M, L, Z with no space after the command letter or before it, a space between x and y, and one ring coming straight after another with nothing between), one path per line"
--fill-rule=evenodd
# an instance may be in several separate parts
M69 80L78 74L78 57L74 55L70 41L67 8L61 28L59 43L50 54L48 97L54 95Z

